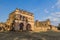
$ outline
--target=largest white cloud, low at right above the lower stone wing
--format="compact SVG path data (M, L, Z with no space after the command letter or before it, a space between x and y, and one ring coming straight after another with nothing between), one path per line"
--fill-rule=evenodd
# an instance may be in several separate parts
M53 12L44 18L44 20L46 19L50 19L52 25L58 25L60 23L60 12Z

